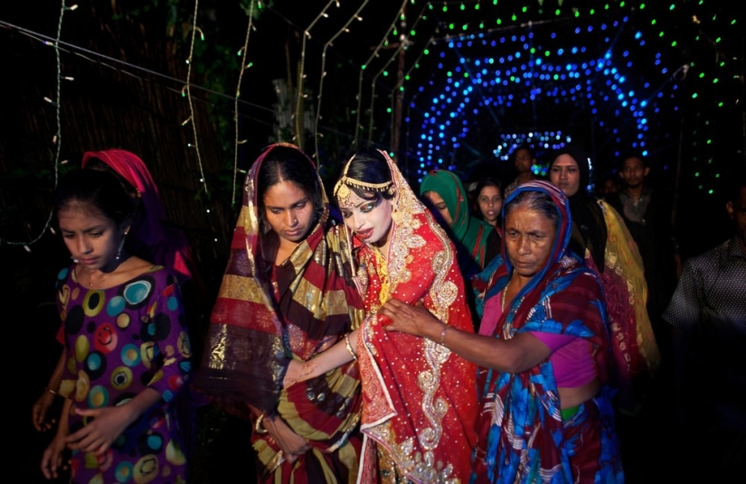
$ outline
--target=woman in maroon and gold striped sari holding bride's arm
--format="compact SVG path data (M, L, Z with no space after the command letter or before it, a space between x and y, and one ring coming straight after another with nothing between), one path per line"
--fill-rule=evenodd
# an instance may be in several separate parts
M357 478L357 365L282 388L290 360L334 346L362 320L340 227L329 219L307 155L291 144L269 146L246 177L196 382L226 411L254 423L259 482Z

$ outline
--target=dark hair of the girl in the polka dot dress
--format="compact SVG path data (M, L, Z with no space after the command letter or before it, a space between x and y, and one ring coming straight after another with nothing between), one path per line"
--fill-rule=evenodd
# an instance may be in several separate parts
M92 214L114 220L117 225L136 217L137 201L129 196L111 172L75 169L60 179L54 194L54 216L75 202L87 205Z

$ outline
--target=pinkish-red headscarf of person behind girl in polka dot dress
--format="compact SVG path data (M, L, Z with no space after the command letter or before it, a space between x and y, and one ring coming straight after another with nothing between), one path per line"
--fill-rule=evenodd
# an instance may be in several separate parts
M137 154L116 148L84 153L81 166L85 168L92 159L105 163L137 190L143 213L130 228L127 240L137 256L190 277L193 271L190 269L192 256L189 243L184 234L168 227L156 181L153 181L146 164Z

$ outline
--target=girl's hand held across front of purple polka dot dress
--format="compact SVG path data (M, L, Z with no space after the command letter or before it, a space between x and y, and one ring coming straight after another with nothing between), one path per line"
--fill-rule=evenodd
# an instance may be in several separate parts
M135 420L127 405L91 409L76 408L76 414L89 417L90 421L78 432L67 436L64 442L73 451L79 450L101 455L124 432L127 425Z

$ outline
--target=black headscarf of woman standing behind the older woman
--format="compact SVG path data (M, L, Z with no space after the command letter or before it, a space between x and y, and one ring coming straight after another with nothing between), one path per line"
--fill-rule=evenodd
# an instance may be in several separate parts
M603 211L596 202L596 198L588 192L588 185L590 183L588 156L581 146L566 144L552 155L552 161L549 163L550 171L552 170L552 165L562 154L570 155L575 160L575 163L578 163L578 172L581 175L578 191L568 199L576 230L576 233L572 237L571 249L578 256L585 257L585 249L588 248L596 267L598 267L599 271L603 271L607 237L606 223L604 222Z

